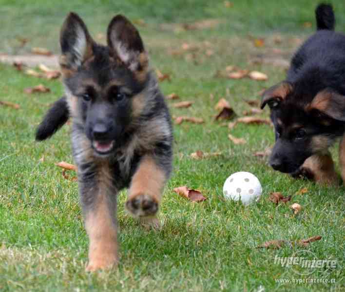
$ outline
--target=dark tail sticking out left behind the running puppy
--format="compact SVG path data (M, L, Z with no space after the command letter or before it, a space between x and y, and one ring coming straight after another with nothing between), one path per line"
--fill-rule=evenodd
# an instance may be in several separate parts
M42 141L52 136L69 118L66 97L54 102L36 130L36 141Z

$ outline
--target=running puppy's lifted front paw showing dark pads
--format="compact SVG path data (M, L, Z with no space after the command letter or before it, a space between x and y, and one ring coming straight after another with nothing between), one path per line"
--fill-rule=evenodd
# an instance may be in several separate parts
M153 216L158 211L158 201L152 195L131 195L126 208L135 217Z

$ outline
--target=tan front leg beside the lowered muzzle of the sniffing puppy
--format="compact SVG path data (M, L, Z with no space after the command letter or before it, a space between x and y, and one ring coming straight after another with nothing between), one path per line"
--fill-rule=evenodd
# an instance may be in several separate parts
M293 176L306 177L322 184L339 182L330 153L310 156Z

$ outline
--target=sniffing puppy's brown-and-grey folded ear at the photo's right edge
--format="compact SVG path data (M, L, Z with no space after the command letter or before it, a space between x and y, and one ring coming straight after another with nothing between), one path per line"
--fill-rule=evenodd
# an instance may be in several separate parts
M310 113L321 113L335 120L345 121L345 96L326 88L313 98L307 110Z

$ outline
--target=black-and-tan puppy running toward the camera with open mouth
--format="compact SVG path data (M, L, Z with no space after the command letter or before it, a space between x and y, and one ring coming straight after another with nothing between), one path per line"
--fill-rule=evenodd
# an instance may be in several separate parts
M65 97L48 111L37 140L72 117L72 148L85 229L87 271L118 261L116 195L129 187L127 210L151 227L172 171L172 123L133 24L121 15L108 26L107 46L97 44L70 13L60 33Z

